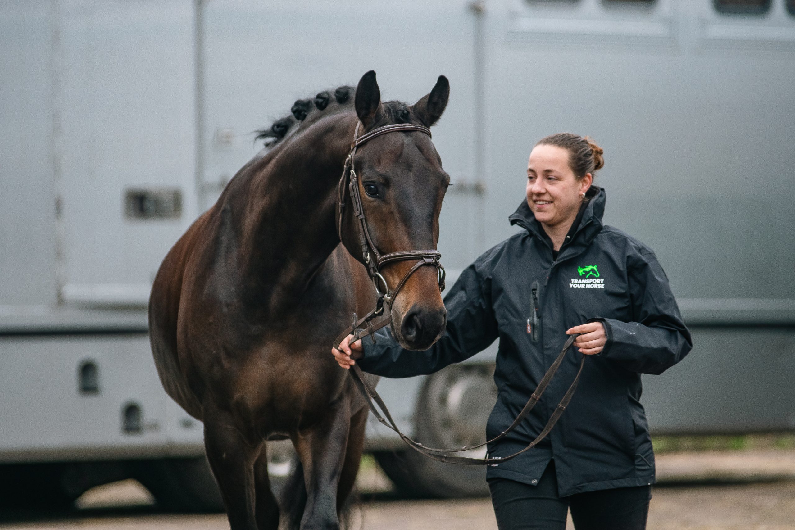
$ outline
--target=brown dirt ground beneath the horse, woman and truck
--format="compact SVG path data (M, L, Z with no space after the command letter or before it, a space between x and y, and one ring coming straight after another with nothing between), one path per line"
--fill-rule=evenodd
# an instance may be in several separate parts
M649 530L795 530L795 451L659 455ZM377 473L360 487L388 483ZM407 501L374 493L355 511L362 530L496 529L487 499ZM227 530L223 514L159 513L137 482L102 486L68 514L0 514L0 530ZM573 528L569 524L568 528Z

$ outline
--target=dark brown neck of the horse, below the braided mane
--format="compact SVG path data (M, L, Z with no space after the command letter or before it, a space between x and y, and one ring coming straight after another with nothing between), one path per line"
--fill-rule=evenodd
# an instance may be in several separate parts
M300 298L339 244L336 186L354 127L350 115L330 116L251 166L240 270L272 308Z

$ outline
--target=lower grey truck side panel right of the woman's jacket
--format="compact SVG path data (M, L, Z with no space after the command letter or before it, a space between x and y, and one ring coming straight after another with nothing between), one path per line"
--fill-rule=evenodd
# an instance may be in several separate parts
M698 328L692 353L643 377L654 433L795 428L795 329Z

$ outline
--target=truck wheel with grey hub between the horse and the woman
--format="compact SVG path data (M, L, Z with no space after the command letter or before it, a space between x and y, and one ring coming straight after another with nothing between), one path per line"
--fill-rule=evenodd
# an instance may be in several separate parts
M494 365L454 365L434 373L417 403L417 442L428 447L471 447L486 441L486 421L497 401ZM483 458L486 448L457 453ZM379 451L378 464L407 497L483 497L483 466L431 460L417 451Z

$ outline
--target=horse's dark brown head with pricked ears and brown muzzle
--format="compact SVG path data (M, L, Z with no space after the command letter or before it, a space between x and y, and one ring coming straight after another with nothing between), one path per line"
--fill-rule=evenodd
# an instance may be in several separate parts
M440 76L432 91L412 106L381 103L375 72L367 72L355 93L359 137L394 123L430 127L444 112L449 93L447 78ZM439 213L450 177L427 134L414 130L374 137L357 149L354 169L367 230L378 253L436 249ZM361 260L358 221L351 210L343 218L343 243ZM389 288L396 288L417 261L384 264L380 272ZM437 269L421 266L405 279L392 301L393 334L409 350L426 350L442 335L446 322Z

